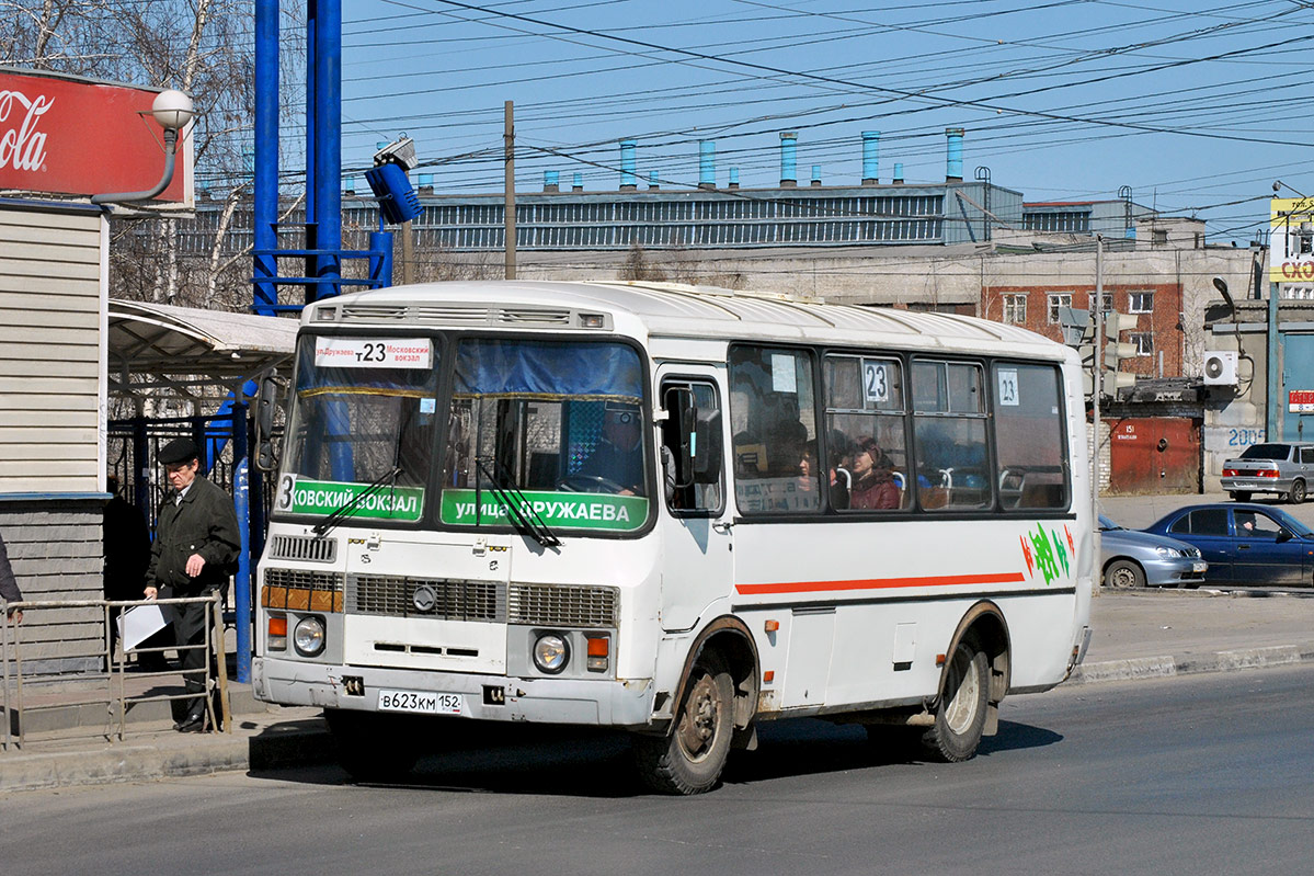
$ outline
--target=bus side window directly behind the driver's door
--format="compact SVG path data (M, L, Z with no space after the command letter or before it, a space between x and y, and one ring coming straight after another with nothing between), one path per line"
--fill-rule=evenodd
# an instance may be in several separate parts
M744 514L821 509L812 358L735 347L729 355L735 500Z

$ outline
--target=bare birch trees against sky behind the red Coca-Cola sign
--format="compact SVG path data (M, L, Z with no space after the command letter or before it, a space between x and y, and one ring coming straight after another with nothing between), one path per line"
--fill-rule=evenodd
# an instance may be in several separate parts
M284 0L283 105L305 78L304 4ZM205 308L244 308L250 270L234 258L235 214L251 195L255 70L250 0L0 0L0 64L95 76L193 95L188 133L201 196L223 208L196 229L162 212L112 218L110 289L116 297ZM286 138L289 149L298 138ZM243 243L248 247L248 243Z

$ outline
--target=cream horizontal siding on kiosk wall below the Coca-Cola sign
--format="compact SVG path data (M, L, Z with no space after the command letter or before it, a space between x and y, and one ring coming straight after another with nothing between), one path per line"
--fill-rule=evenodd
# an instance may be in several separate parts
M0 207L0 496L100 491L104 221Z

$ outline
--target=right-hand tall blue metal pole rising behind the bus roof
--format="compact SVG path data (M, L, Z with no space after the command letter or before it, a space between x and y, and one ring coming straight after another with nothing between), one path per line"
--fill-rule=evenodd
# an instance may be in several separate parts
M342 0L319 0L315 14L314 189L315 249L334 255L317 259L322 283L314 293L325 299L340 292L342 276Z

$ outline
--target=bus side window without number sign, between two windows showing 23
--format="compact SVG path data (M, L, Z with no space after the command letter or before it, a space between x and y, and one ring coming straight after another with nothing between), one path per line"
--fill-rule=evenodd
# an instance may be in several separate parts
M988 508L992 501L980 367L912 363L917 501L926 509Z

